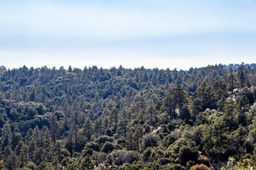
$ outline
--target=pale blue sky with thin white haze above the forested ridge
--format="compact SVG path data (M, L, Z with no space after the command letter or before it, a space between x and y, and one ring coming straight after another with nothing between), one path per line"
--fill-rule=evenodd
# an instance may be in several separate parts
M255 63L256 0L0 0L0 65Z

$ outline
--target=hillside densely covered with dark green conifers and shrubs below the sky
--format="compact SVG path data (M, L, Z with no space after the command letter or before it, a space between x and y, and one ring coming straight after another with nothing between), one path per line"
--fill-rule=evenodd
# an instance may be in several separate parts
M255 64L0 79L0 169L256 169Z

